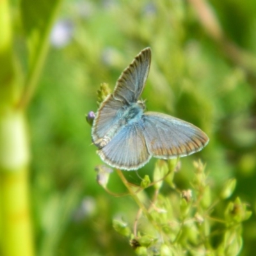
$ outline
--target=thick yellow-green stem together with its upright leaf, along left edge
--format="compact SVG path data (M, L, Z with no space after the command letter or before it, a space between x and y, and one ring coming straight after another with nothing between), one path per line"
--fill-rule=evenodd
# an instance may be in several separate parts
M21 1L20 12L24 19L20 27L26 34L28 70L20 68L24 60L20 52L13 49L15 37L10 3L0 3L0 252L4 256L34 255L28 203L30 147L26 107L42 71L56 3ZM36 15L38 7L41 10Z

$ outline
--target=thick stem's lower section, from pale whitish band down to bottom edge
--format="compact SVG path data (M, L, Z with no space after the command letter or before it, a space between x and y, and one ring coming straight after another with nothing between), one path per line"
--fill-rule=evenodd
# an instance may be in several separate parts
M0 118L0 241L3 256L32 256L28 202L28 133L24 113Z

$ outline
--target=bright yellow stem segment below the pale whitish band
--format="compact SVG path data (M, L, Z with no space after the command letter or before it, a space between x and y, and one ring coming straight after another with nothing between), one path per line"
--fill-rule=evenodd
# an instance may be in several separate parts
M33 256L33 234L29 216L28 170L0 172L1 252L4 256Z

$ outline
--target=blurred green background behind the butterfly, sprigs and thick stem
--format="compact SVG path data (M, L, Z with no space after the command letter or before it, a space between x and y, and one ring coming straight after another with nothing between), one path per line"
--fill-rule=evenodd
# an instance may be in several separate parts
M47 10L47 1L39 2L42 8L32 10L31 5L35 19ZM20 14L24 3L9 3L21 91L26 90L22 83L29 70L24 27L34 25L24 9L23 18ZM148 46L152 65L142 95L147 109L191 122L210 138L202 152L181 159L177 184L189 188L192 162L198 158L207 164L214 191L236 177L234 198L240 196L253 211L243 225L241 255L254 255L256 2L74 0L58 4L48 28L44 68L26 112L36 255L134 255L127 240L113 230L112 219L124 216L132 223L137 207L130 198L115 198L97 184L94 169L102 162L91 145L85 115L97 111L100 83L113 88L122 70ZM38 24L44 24L44 17ZM150 175L154 162L144 166L140 175ZM125 175L138 182L136 173ZM115 173L109 188L124 191Z

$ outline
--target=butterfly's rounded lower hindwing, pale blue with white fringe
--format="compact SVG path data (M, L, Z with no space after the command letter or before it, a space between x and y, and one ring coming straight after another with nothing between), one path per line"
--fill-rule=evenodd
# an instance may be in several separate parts
M147 163L150 155L143 136L142 122L122 128L109 143L98 150L101 159L111 166L136 170Z

